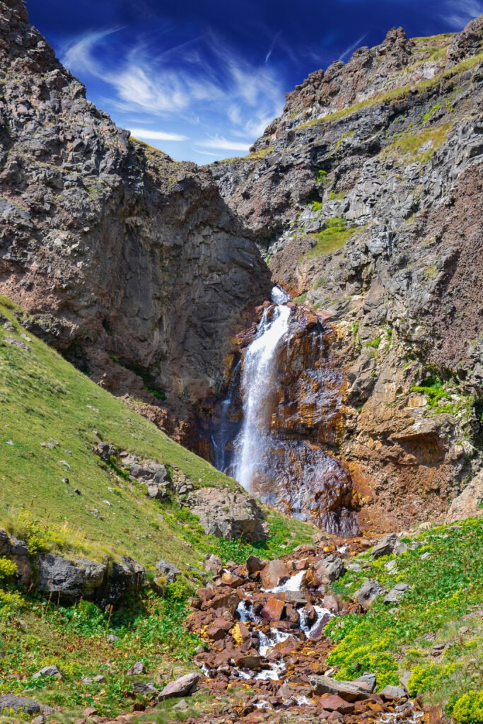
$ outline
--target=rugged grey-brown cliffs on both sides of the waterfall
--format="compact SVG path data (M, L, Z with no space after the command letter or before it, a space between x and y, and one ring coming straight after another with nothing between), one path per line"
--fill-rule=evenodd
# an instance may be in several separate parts
M271 272L297 309L259 492L333 527L441 518L482 457L482 18L391 30L200 169L89 103L21 0L0 10L0 291L22 323L216 462Z

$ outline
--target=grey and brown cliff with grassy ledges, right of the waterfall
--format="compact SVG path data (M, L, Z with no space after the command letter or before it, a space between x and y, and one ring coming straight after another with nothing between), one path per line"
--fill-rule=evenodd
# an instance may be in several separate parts
M481 463L482 33L391 30L289 93L256 153L211 165L274 281L332 328L331 452L364 529L444 518Z

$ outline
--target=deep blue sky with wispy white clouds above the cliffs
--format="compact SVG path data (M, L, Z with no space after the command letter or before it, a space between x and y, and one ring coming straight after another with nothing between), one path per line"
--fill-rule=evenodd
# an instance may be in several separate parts
M177 160L243 156L313 70L403 25L460 30L483 0L28 0L30 22L121 127Z

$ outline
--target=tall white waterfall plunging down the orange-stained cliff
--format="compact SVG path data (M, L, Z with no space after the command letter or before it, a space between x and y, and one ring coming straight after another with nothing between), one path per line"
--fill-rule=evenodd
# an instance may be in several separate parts
M280 288L272 290L277 305L266 308L259 329L243 355L241 393L243 424L235 440L234 476L246 490L250 490L256 468L264 454L264 438L269 432L269 397L275 387L277 350L288 331L290 298Z

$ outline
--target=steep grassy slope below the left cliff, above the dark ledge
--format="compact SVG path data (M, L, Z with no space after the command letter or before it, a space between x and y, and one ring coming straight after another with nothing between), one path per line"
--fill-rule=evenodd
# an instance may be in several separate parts
M32 334L25 335L12 306L3 302L0 314L15 330L4 329L0 320L0 525L28 536L33 526L22 511L29 511L42 526L56 531L56 547L93 557L127 553L148 566L161 557L182 568L199 565L203 553L217 550L217 540L204 535L192 516L148 500L142 484L102 466L92 452L98 434L117 447L180 468L197 487L236 489L238 484L177 445ZM24 342L30 351L6 343L8 337ZM53 450L41 446L52 441L59 443ZM69 484L62 482L65 477ZM298 544L314 532L280 513L269 513L269 522L274 538L265 549L275 555L279 544ZM249 548L239 547L240 555Z

